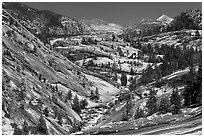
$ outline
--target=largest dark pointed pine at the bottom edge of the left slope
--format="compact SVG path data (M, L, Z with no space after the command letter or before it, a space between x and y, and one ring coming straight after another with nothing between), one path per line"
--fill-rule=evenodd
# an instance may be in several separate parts
M42 134L42 135L48 135L47 125L42 115L40 116L40 119L39 119L39 122L36 128L37 128L37 133Z

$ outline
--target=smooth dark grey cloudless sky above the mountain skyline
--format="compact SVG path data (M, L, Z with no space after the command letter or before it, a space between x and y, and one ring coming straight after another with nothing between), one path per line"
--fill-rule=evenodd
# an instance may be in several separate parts
M40 10L50 10L76 20L100 18L127 25L143 18L157 19L165 14L174 18L187 9L202 10L201 2L24 2Z

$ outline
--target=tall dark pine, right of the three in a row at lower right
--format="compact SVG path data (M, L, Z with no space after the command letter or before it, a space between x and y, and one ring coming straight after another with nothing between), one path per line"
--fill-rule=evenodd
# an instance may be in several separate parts
M171 111L173 114L178 114L181 108L181 96L178 94L178 91L173 90L170 97Z

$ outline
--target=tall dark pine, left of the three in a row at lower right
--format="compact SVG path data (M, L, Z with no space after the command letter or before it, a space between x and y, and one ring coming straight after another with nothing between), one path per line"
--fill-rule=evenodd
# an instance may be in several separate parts
M150 90L150 94L146 103L146 107L148 110L148 115L152 115L154 113L157 112L158 107L157 107L157 99L155 97L155 91L154 90Z

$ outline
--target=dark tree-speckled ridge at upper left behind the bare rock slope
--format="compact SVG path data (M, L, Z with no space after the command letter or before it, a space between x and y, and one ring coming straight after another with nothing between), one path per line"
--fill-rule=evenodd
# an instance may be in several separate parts
M70 17L51 11L37 10L21 3L3 3L2 7L36 35L62 36L83 34L82 25Z

